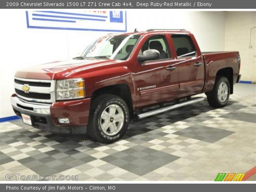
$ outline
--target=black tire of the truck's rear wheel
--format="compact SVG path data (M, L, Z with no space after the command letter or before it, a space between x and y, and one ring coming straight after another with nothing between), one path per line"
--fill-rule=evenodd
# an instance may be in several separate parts
M228 90L222 91L225 96L219 96L218 97L218 89L221 87L227 86ZM210 106L221 108L228 104L228 99L230 96L230 84L226 77L224 76L217 76L216 82L214 84L213 90L206 93L207 101L210 104ZM223 99L222 99L223 98Z

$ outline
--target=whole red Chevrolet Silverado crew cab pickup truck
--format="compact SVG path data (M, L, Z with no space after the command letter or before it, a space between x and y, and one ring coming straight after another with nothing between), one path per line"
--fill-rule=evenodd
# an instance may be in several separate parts
M204 100L196 94L225 106L239 71L239 52L202 53L186 30L108 34L80 57L16 72L11 103L26 124L108 143L125 134L130 119Z

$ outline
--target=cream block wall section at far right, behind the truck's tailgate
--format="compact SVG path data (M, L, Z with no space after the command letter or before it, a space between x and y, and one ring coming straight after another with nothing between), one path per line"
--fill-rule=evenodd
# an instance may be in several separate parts
M243 81L256 82L256 12L226 12L225 50L238 50Z

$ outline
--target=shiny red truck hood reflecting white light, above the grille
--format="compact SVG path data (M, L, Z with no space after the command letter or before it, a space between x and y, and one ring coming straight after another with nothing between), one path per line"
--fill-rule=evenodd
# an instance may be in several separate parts
M105 60L105 59L88 59L88 60L66 60L57 61L46 64L25 68L16 72L15 77L28 78L28 79L43 79L54 80L59 79L61 76L65 78L66 74L70 74L73 71L86 70L92 68L98 68L108 64L119 63L118 60Z

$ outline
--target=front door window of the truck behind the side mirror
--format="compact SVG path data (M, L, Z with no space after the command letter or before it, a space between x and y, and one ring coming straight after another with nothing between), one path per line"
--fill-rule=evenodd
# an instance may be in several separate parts
M160 59L171 58L170 49L164 35L154 35L149 37L142 46L140 54L149 49L158 50L160 52Z

